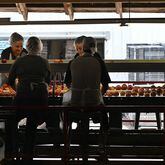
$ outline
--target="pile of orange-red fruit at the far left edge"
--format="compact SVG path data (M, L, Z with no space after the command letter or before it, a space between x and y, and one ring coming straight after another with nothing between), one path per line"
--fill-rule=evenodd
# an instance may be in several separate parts
M16 92L8 84L3 84L0 87L0 96L15 96Z

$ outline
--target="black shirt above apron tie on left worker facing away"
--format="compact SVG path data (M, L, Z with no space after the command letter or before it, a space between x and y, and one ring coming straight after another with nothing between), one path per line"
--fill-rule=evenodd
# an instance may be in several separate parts
M9 71L8 83L13 86L18 78L17 92L24 92L27 84L34 82L50 82L50 66L48 61L37 55L18 58Z

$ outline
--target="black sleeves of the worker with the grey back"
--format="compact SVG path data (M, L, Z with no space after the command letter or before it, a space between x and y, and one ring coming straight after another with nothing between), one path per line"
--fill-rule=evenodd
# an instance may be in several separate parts
M74 59L77 58L78 56L79 55L76 54ZM96 58L99 61L100 65L101 65L101 84L103 85L103 92L105 92L108 89L108 83L111 82L111 79L109 77L106 65L105 65L104 61L102 60L101 56L99 55L99 53L96 52L93 55L93 57ZM70 87L71 82L72 82L72 75L71 75L70 65L71 65L73 60L69 61L68 67L67 67L67 70L66 70L64 83L67 85L67 87Z

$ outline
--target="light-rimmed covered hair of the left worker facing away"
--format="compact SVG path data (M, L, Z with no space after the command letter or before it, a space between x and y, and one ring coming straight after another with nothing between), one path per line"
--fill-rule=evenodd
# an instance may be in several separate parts
M38 37L30 37L26 44L26 49L28 53L37 54L42 51L43 44Z

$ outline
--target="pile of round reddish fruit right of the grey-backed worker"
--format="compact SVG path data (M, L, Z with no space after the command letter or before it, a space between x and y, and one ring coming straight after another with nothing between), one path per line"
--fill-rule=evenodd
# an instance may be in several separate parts
M105 96L123 96L123 97L155 97L155 96L165 96L165 85L161 86L154 86L151 85L150 87L138 87L133 85L117 85L117 86L110 86L109 89L106 91Z

